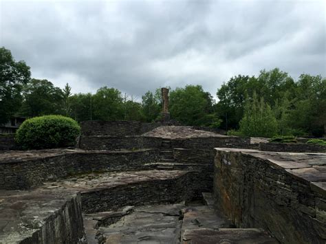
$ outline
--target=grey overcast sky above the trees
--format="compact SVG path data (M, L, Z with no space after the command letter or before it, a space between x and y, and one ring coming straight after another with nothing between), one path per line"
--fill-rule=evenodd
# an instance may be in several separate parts
M33 78L140 98L279 67L326 76L326 1L3 1L0 46Z

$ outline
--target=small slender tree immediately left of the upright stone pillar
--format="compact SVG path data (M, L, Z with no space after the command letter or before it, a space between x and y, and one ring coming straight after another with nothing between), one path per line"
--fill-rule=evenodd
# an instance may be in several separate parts
M151 91L147 91L142 96L142 115L145 122L153 122L161 112L160 96L155 95Z

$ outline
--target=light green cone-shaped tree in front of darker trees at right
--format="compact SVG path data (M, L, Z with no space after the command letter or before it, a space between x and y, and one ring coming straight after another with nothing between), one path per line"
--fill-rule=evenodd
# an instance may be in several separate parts
M277 134L277 122L270 105L263 98L259 101L256 93L252 100L246 100L239 131L242 135L251 137L272 137Z

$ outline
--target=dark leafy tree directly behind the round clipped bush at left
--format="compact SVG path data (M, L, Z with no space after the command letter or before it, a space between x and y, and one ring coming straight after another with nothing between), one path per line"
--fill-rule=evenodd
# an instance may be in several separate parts
M61 114L63 91L48 80L32 79L23 88L21 113L27 117Z

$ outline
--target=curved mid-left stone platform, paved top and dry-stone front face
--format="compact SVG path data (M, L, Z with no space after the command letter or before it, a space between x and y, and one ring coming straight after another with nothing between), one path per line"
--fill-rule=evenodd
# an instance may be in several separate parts
M193 173L186 170L91 173L47 182L41 188L80 191L83 212L102 212L193 199L201 186L192 179Z

